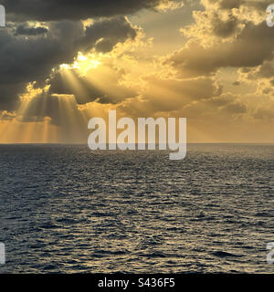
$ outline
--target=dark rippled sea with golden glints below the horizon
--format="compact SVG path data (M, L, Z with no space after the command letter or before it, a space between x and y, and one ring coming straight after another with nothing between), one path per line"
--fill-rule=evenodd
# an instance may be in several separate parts
M1 273L273 273L274 147L0 146Z

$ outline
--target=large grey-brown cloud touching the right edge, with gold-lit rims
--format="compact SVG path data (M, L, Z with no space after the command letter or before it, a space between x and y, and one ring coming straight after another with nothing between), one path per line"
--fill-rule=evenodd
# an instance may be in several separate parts
M203 47L189 41L163 62L176 69L183 78L206 76L219 68L257 67L273 55L274 30L260 23L248 23L233 41Z

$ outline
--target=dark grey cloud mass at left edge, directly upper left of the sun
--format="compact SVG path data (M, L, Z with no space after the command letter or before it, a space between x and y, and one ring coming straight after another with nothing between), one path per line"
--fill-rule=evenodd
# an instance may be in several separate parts
M52 68L71 63L79 50L95 46L99 39L102 45L96 48L105 52L136 36L135 29L121 16L95 22L92 26L96 29L88 26L85 30L80 21L66 20L47 26L47 34L29 38L14 36L12 29L0 30L0 110L15 109L17 96L28 82L43 86Z

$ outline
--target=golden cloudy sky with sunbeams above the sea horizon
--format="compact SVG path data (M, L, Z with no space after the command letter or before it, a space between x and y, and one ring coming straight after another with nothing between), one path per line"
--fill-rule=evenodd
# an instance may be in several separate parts
M0 0L0 143L87 143L109 110L273 143L272 2Z

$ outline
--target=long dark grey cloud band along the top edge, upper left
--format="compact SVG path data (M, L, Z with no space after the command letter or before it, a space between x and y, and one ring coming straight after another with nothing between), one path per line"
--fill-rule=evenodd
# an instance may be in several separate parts
M8 20L52 21L127 15L161 2L163 0L2 0L1 4L5 5Z

